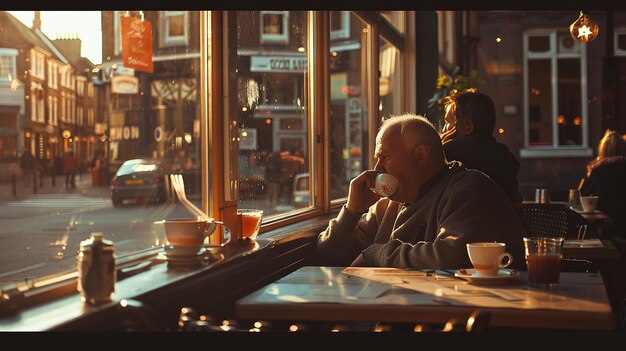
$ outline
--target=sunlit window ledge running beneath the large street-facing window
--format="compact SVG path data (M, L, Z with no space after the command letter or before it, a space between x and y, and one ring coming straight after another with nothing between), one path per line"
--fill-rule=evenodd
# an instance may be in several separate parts
M172 268L168 267L165 261L159 260L160 262L151 265L149 269L119 280L115 284L112 301L99 306L84 303L76 291L75 278L70 279L63 283L62 290L65 291L63 296L56 296L56 298L37 304L29 304L13 314L0 316L0 330L52 331L68 328L73 330L72 328L77 325L85 327L81 320L98 319L95 316L104 315L107 311L111 311L122 300L137 299L139 301L145 296L156 294L159 291L171 290L170 287L181 285L183 281L184 284L188 284L190 279L207 279L214 273L219 274L218 272L221 270L232 270L232 267L236 266L240 260L255 260L254 257L257 257L257 254L259 255L258 260L262 260L263 256L272 256L274 254L272 249L280 244L297 242L298 240L314 241L319 231L327 224L328 217L319 216L280 229L270 230L260 235L256 242L241 241L219 249L218 255L222 256L221 259L197 268ZM268 250L269 252L266 252ZM264 252L266 252L265 255ZM239 263L246 262L241 261ZM180 286L176 288L180 288ZM182 305L184 302L181 301L180 304Z

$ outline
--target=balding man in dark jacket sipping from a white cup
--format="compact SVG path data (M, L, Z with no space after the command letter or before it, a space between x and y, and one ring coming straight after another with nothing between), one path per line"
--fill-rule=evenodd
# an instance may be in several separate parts
M329 266L471 268L466 244L498 241L525 269L524 229L513 204L485 174L448 162L426 118L387 119L376 136L376 166L350 181L348 201L320 233L314 261ZM378 173L399 181L381 198Z

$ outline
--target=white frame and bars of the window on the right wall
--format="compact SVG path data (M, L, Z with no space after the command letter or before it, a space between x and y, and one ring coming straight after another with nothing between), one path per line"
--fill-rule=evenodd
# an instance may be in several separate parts
M587 47L580 45L580 51L574 53L559 53L558 51L558 34L562 33L557 29L531 29L523 33L523 81L524 81L524 146L520 149L520 157L589 157L592 156L593 150L589 148L589 112L588 104L588 80L587 80ZM550 43L550 49L546 52L530 52L529 40L531 37L547 36ZM582 145L558 145L558 59L559 58L578 58L580 60L580 79L581 79L581 117L582 117ZM530 146L530 111L529 111L529 72L528 63L533 59L549 59L552 75L550 77L550 87L552 92L552 145L547 146Z

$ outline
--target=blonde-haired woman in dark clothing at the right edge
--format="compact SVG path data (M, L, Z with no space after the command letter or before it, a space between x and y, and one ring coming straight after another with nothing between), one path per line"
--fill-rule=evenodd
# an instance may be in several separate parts
M598 143L598 156L587 164L581 195L597 195L597 209L613 219L614 236L626 238L626 140L607 129Z

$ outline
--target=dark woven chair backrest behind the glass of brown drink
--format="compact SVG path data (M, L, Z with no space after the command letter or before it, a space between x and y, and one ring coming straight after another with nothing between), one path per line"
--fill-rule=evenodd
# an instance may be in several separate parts
M519 212L528 236L576 239L579 228L588 224L583 216L561 204L522 203Z

